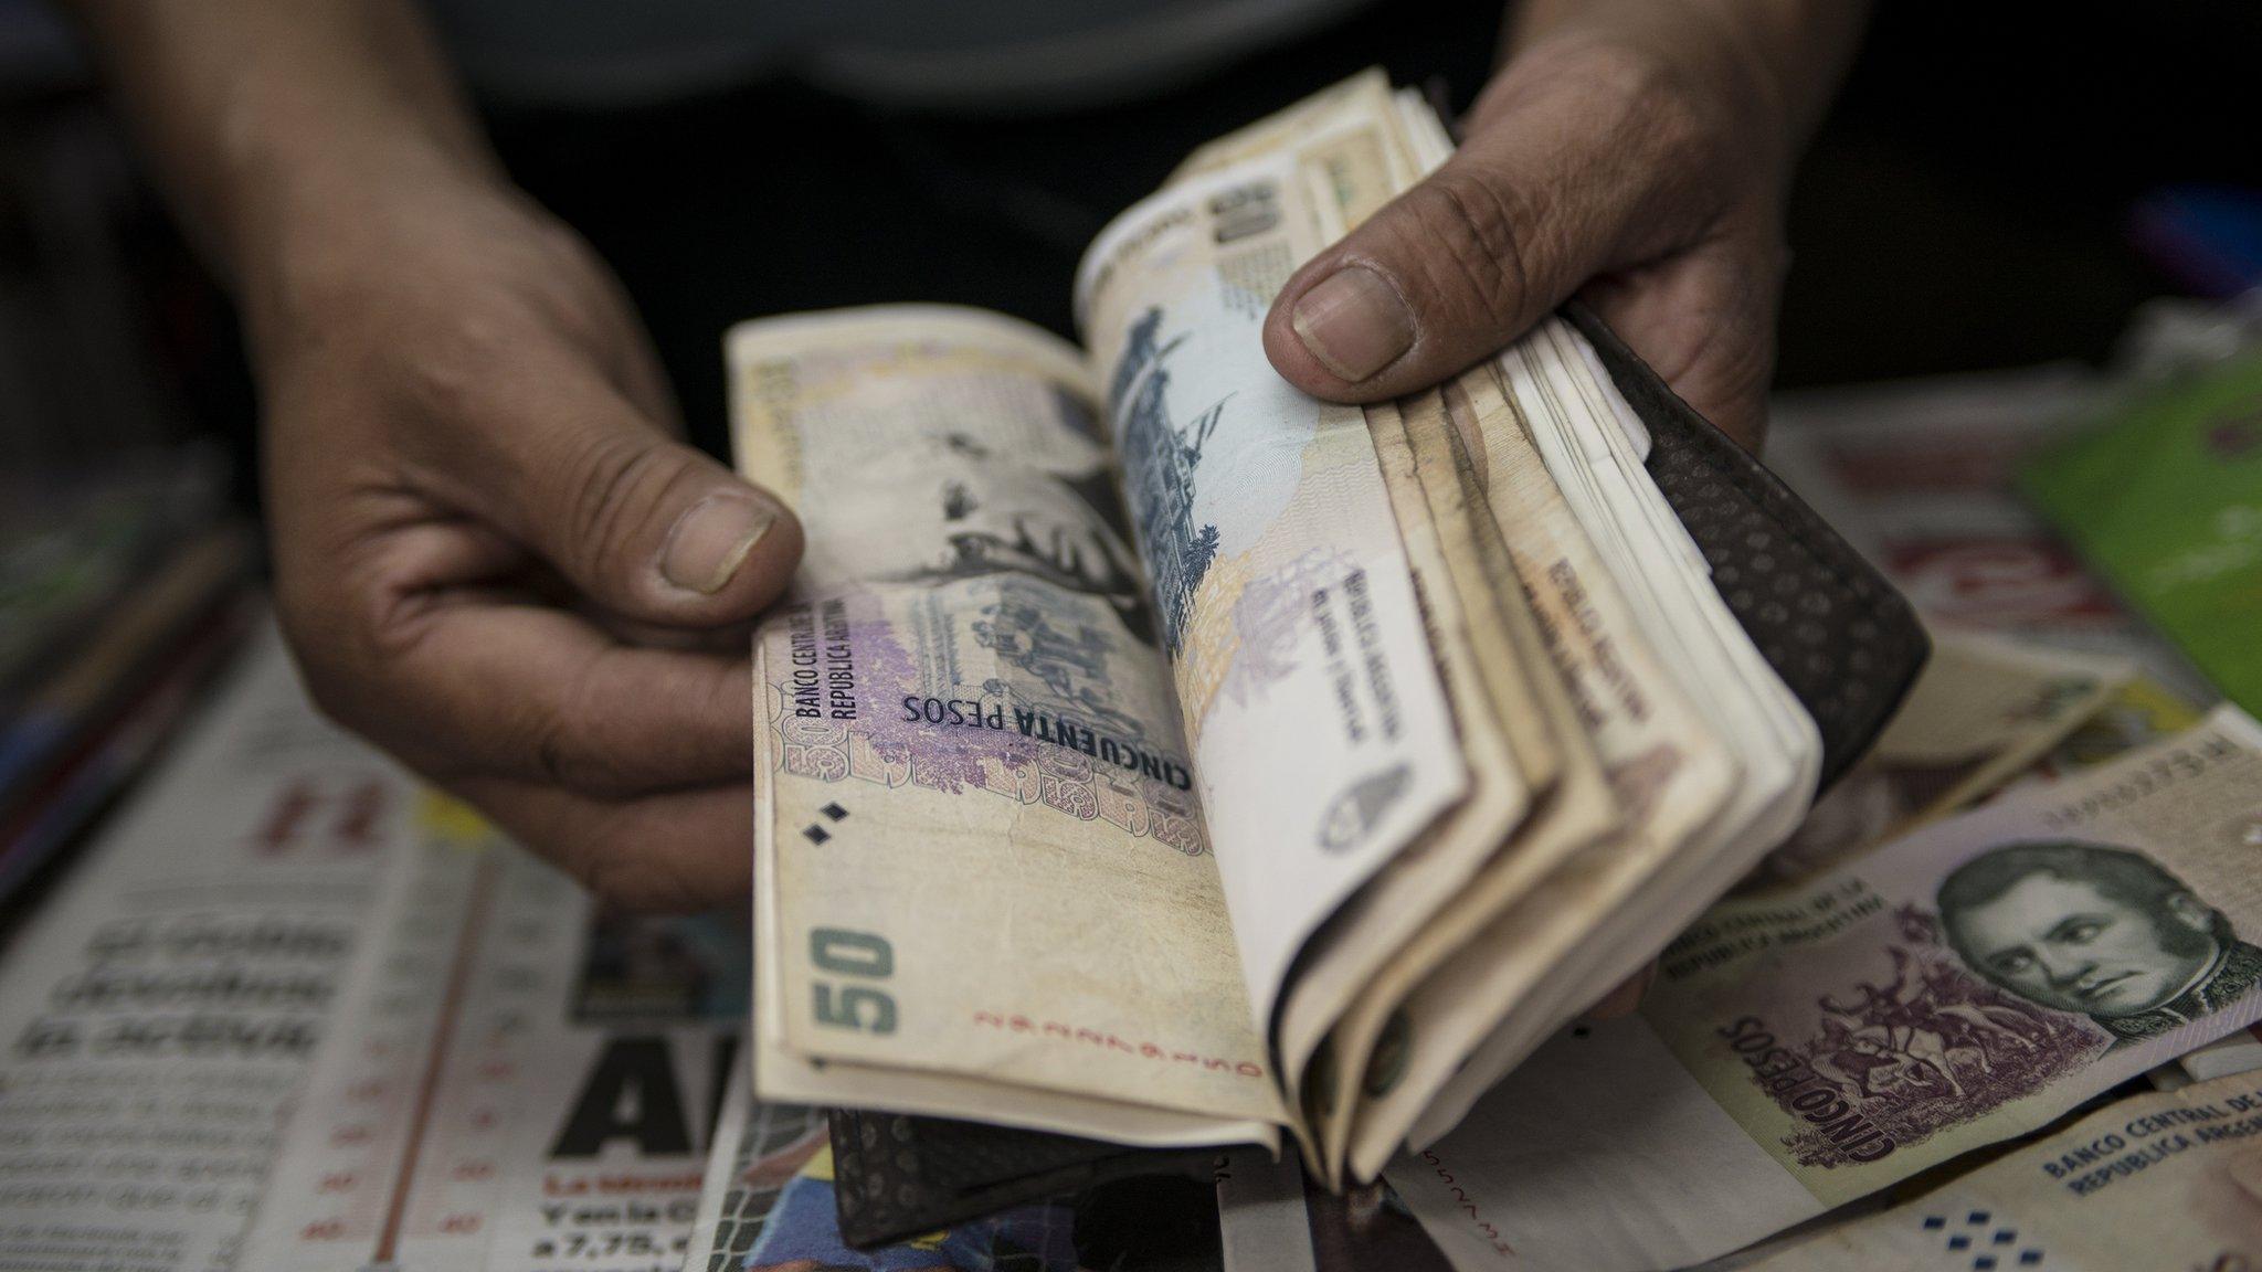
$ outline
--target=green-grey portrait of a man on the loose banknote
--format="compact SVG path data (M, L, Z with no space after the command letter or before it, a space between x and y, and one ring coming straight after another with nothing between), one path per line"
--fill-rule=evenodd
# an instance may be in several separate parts
M1939 908L1972 971L2086 1014L2115 1046L2208 1016L2262 980L2262 948L2133 849L2006 844L1957 867Z

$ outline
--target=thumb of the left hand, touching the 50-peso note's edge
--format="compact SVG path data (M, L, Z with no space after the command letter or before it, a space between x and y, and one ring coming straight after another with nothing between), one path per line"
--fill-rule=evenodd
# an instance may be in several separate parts
M667 627L760 613L792 579L801 525L769 491L683 446L608 385L543 394L484 464L486 509L608 611ZM475 505L477 507L477 505Z

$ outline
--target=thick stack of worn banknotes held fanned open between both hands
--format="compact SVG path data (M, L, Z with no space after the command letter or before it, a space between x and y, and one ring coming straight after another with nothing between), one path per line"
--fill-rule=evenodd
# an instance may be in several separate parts
M731 333L810 541L756 638L765 1100L1369 1179L1803 822L1816 724L1577 328L1364 410L1269 367L1448 152L1378 75L1203 147L1083 258L1083 349Z

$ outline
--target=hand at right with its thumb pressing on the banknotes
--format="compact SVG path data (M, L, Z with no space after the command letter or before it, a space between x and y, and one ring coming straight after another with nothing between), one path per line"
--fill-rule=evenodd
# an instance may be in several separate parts
M1782 32L1735 9L1606 2L1543 23L1468 113L1452 161L1280 290L1264 324L1274 367L1321 398L1393 398L1581 294L1683 398L1755 448L1780 206L1819 104L1760 52Z

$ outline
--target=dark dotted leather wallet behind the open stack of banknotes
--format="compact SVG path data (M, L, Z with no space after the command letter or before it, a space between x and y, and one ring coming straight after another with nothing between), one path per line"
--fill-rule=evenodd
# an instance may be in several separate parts
M1821 785L1868 749L1932 652L1909 602L1814 509L1712 428L1583 306L1565 317L1649 428L1649 475L1712 584L1823 740ZM1203 1172L1215 1150L1156 1152L946 1118L832 1114L841 1236L903 1240L1126 1175Z

